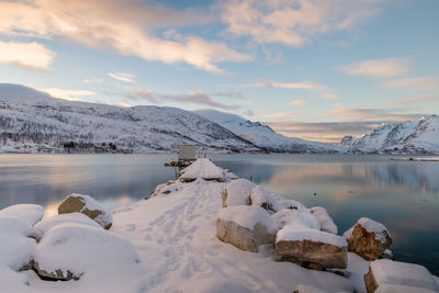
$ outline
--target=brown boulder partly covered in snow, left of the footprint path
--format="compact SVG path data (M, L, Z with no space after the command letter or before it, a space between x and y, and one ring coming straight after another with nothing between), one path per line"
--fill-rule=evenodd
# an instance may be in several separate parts
M113 216L93 198L83 194L70 194L58 206L58 214L82 213L94 219L99 225L109 229L113 223Z

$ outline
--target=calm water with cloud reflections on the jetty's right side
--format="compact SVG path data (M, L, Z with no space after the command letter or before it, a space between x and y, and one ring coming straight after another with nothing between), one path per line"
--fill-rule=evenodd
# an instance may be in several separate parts
M325 206L339 233L361 216L384 223L397 259L421 263L439 274L439 162L374 156L248 157L215 159L237 176L251 177L307 206Z

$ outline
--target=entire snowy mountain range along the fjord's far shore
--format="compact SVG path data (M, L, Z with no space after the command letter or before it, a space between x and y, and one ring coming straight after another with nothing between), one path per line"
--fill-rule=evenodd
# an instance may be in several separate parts
M0 153L169 153L179 144L233 153L439 153L436 115L383 124L339 146L286 137L259 122L215 110L121 108L56 99L0 83Z

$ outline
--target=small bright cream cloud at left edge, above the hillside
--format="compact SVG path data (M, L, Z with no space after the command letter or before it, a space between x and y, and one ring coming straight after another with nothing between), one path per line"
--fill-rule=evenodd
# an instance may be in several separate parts
M55 56L54 52L35 42L16 43L0 41L0 65L11 64L37 70L47 70Z

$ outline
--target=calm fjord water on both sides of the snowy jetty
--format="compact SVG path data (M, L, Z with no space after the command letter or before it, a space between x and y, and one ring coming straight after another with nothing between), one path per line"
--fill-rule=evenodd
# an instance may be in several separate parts
M439 162L385 156L212 155L215 164L307 206L325 206L342 234L362 216L392 234L396 259L439 275ZM66 195L92 195L109 209L176 179L172 155L0 155L0 209L18 203L56 214Z

